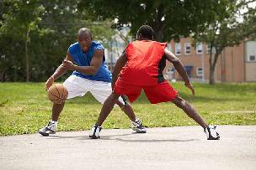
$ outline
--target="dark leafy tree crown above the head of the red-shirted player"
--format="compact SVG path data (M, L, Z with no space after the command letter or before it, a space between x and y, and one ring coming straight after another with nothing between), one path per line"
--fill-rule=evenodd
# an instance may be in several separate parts
M136 0L120 3L119 0L83 0L78 4L78 8L93 13L97 19L115 18L115 28L129 25L133 35L141 24L148 24L155 30L155 38L158 41L169 41L204 30L205 23L215 18L219 2ZM226 0L221 2L227 3Z

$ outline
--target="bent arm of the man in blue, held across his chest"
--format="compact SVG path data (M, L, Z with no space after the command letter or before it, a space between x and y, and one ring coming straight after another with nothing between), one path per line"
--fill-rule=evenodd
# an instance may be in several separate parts
M71 60L64 59L63 67L67 70L76 70L85 75L95 75L98 72L100 65L102 64L103 56L104 49L98 49L95 50L93 59L89 66L78 66L76 64L73 64Z

